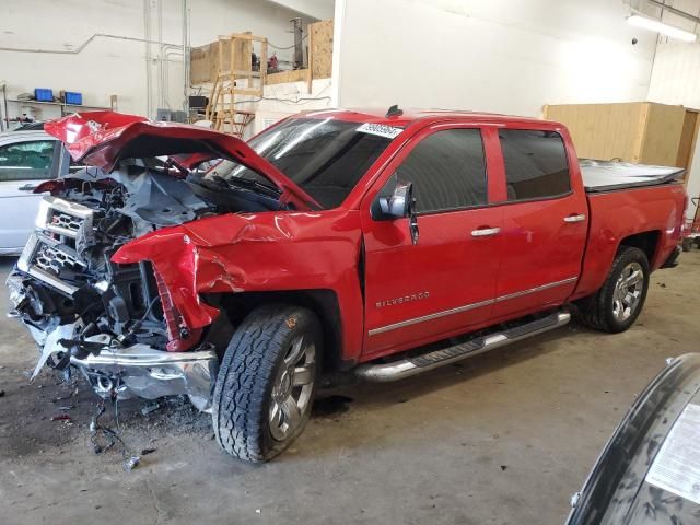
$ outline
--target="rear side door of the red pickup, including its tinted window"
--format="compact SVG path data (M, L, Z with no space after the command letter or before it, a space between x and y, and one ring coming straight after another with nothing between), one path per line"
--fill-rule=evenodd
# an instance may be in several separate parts
M559 131L502 128L499 143L505 202L494 322L565 302L588 224L575 153Z

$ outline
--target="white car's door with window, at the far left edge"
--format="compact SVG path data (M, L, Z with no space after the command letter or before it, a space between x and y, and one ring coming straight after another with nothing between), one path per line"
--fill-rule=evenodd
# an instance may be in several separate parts
M19 253L34 230L40 195L34 189L58 174L61 148L49 138L0 143L0 253Z

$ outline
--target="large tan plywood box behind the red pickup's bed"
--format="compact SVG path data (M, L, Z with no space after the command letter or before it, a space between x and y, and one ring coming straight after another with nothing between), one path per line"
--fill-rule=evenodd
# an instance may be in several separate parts
M581 158L688 167L698 112L652 102L545 106L545 118L569 128Z

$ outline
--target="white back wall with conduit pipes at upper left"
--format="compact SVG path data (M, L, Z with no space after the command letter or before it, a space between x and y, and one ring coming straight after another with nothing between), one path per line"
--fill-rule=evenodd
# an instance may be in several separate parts
M158 38L158 0L151 4L151 37ZM252 31L267 36L280 47L293 44L289 20L299 14L267 0L189 0L192 46L215 40L218 35ZM182 45L182 1L163 0L163 40ZM0 48L75 49L94 33L143 38L144 2L142 0L22 0L0 2ZM304 22L307 22L305 19ZM158 46L151 46L158 57ZM270 49L272 52L273 49ZM292 50L278 50L281 59L291 59ZM155 91L158 65L151 66ZM167 62L165 104L182 108L184 98L182 55L173 54ZM16 52L0 50L0 82L8 82L8 96L51 88L83 93L83 103L107 106L116 94L119 110L147 114L145 44L97 38L79 55ZM159 104L153 96L153 112ZM10 103L16 114L18 104ZM42 106L40 118L57 116L58 109Z

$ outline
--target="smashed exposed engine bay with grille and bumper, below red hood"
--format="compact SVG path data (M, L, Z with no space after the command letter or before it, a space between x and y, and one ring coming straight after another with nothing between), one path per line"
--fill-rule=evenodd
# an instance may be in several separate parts
M88 167L39 187L50 195L8 279L12 315L42 349L33 376L45 364L67 374L77 368L103 397L188 394L206 410L213 347L182 323L150 262L110 258L164 226L285 206L276 188L234 183L149 159L125 160L112 173Z

